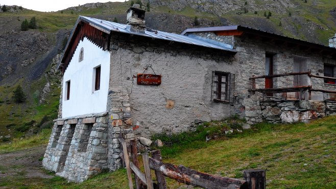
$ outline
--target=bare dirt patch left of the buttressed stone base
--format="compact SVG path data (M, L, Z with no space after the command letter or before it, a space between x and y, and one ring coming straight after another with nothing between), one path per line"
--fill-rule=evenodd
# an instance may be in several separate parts
M25 178L27 182L36 178L53 178L54 176L47 174L42 167L41 157L44 155L45 146L20 150L7 154L0 154L0 183L2 181L15 181ZM0 188L2 187L0 185Z

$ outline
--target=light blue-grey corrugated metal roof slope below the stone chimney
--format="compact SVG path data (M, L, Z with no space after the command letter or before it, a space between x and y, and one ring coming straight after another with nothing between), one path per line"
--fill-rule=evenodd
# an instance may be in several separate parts
M156 38L156 39L163 39L163 40L170 40L174 42L205 46L207 48L220 49L224 51L236 52L232 48L228 48L225 45L213 44L205 40L195 39L195 38L191 38L191 37L180 35L180 34L156 31L156 30L152 30L149 28L145 29L145 33L137 33L137 32L132 32L130 30L129 25L123 25L122 23L116 23L112 21L106 21L106 20L102 20L98 18L91 18L91 17L86 17L86 16L80 16L80 20L87 21L91 26L100 28L104 32L107 32L107 33L110 33L110 31L122 32L122 33L140 35L140 36L151 37L151 38Z

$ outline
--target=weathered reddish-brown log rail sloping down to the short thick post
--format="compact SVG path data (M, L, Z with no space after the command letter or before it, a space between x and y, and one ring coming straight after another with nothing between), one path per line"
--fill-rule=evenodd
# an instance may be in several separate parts
M248 183L245 180L201 173L184 166L163 163L151 157L149 158L149 167L184 184L213 189L248 188Z

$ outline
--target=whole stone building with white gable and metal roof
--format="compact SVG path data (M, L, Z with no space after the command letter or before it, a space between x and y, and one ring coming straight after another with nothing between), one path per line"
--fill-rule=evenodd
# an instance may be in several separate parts
M118 137L192 130L234 114L250 124L306 121L336 109L325 102L334 99L326 90L336 86L336 49L242 26L178 35L146 28L144 17L132 7L127 25L78 18L59 64L62 93L46 169L81 182L122 167ZM292 72L330 78L250 79Z

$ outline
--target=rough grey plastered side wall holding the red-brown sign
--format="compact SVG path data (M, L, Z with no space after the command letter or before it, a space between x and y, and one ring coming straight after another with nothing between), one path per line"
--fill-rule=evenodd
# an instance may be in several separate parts
M238 74L225 51L120 33L112 34L110 44L110 90L121 86L128 92L137 136L193 130L195 122L234 114L230 104L211 101L212 72ZM136 76L143 73L162 75L161 84L138 85Z

